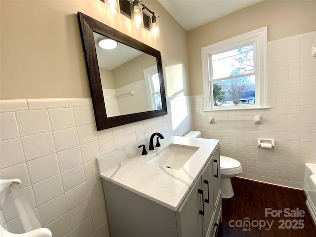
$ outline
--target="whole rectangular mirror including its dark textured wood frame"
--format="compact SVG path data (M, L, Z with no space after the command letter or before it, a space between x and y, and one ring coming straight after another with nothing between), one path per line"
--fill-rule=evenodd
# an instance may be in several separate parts
M78 19L97 130L166 115L160 52L81 12ZM99 48L104 37L123 51Z

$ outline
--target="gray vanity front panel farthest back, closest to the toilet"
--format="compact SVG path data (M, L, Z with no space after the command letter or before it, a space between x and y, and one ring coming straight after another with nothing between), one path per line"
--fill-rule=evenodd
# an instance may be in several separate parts
M219 158L219 146L216 148L215 152L213 153L213 197L214 197L214 204L217 206L219 200L222 198L220 189L221 189L221 163ZM214 206L214 208L215 208Z

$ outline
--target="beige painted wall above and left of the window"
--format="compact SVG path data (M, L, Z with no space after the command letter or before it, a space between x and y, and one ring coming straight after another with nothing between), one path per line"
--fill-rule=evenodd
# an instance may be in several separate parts
M316 31L315 0L265 0L188 32L191 95L203 94L201 47L268 27L268 41Z

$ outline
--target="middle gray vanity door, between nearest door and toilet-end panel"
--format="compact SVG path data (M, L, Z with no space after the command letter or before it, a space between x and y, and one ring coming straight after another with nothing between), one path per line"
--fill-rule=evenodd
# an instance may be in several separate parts
M204 236L208 237L213 227L214 197L213 197L213 165L212 159L208 161L202 171L202 187L204 192Z

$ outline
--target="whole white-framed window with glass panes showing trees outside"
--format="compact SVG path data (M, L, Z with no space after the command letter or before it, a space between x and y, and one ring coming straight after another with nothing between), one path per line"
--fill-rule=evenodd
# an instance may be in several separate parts
M201 48L205 110L268 108L267 27Z

